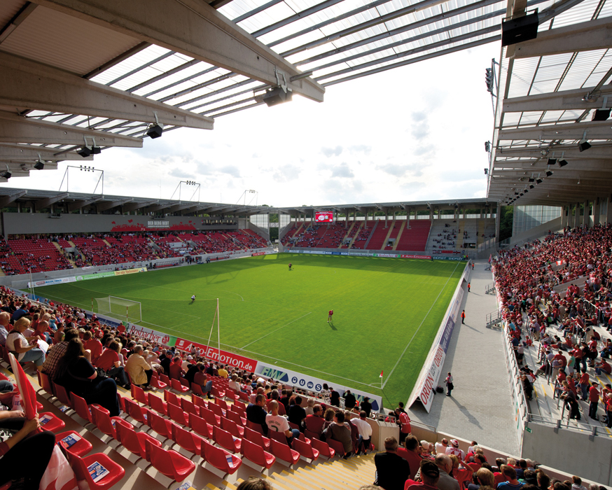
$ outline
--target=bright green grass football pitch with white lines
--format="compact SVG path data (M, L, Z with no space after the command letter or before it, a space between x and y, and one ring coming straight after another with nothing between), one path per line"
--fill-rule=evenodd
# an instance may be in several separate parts
M203 344L219 298L222 349L382 395L384 405L394 407L412 391L464 266L285 253L36 293L87 309L92 297L139 301L141 325ZM190 304L193 294L197 300Z

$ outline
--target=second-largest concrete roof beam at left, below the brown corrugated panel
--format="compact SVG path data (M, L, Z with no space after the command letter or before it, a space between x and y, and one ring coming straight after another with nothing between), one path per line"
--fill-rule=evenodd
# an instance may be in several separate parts
M211 130L214 120L0 52L0 105Z

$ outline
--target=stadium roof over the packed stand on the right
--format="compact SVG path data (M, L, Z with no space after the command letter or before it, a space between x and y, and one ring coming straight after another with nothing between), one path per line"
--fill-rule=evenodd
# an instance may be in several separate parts
M540 16L536 39L502 48L487 194L502 204L612 193L612 1L565 5Z

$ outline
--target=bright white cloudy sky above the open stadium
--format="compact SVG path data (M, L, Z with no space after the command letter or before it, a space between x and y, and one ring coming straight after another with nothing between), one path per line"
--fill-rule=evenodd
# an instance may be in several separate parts
M190 180L200 200L231 204L246 189L258 191L247 204L272 206L485 197L492 58L499 43L328 87L323 103L295 96L218 118L212 131L106 150L87 165L104 170L106 195L169 199ZM66 165L2 186L60 190ZM70 191L93 192L97 174L69 172ZM182 186L181 198L193 189Z

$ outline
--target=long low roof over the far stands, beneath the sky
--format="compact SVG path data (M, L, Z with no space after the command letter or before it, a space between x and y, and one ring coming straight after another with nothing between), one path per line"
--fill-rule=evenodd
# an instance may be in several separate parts
M375 211L401 211L410 209L482 209L488 207L495 211L496 202L487 200L447 200L447 201L414 201L414 202L387 202L370 204L335 204L328 206L304 206L295 208L279 208L267 206L251 206L243 204L223 204L221 202L196 202L188 200L150 199L147 197L114 196L102 194L69 193L53 190L32 190L0 188L0 208L16 207L16 203L25 207L32 207L33 211L47 209L53 204L62 204L68 212L79 211L94 207L97 213L109 211L141 211L144 214L209 214L211 216L250 216L251 214L282 213L297 216L314 211L338 211L373 213Z

